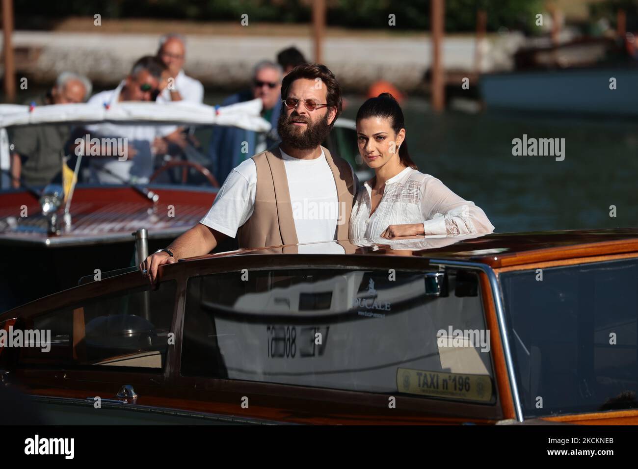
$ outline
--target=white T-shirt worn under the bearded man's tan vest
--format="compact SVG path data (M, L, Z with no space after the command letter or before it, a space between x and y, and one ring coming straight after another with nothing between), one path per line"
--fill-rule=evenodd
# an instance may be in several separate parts
M302 244L336 239L339 200L323 149L315 160L300 160L283 151L281 156L286 168L297 240ZM237 229L253 214L256 185L257 168L255 161L249 158L230 172L200 223L235 237ZM336 243L321 245L321 249L323 253L343 253L343 247ZM299 247L299 253L309 252L316 250L313 246Z

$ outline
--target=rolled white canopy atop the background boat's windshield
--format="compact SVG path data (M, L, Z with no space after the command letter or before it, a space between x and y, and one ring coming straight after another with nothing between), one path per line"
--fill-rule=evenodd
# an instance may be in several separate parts
M256 132L271 130L261 117L262 100L215 107L199 103L154 103L125 101L107 107L95 104L53 104L46 106L0 105L0 128L57 123L140 123L234 126Z

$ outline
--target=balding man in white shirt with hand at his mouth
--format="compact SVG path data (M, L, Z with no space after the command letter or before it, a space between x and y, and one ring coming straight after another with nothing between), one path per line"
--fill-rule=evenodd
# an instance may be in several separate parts
M159 94L158 102L188 101L202 103L204 86L184 73L186 40L181 34L165 34L159 38L159 59L168 68L167 87Z

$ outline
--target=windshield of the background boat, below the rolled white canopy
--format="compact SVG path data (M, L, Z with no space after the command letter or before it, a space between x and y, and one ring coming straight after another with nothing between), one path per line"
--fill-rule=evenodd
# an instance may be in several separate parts
M56 140L43 141L36 148L34 136L40 135L41 128L38 124L8 128L11 151L23 162L18 175L8 170L8 161L0 165L0 190L20 186L38 197L42 188L62 184L64 178L70 186L76 170L75 178L80 185L152 183L217 188L233 167L251 156L230 154L226 135L229 128L222 126L187 126L177 122L61 123L56 124L61 135L56 134ZM260 144L246 151L262 151L278 141L272 132L259 135L264 137ZM357 170L363 163L356 140L356 132L348 122L337 123L322 145ZM63 162L68 168L63 169ZM65 193L67 190L68 187Z

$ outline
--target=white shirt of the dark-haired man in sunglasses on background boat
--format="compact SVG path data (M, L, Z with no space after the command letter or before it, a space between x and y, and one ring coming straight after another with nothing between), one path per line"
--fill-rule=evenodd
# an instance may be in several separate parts
M89 98L89 104L105 103L110 106L116 106L119 101L120 91L124 86L122 81L115 89L101 91ZM151 145L155 137L164 137L170 133L168 126L153 126L148 124L114 124L101 123L85 126L89 131L91 138L97 137L119 137L126 138L129 145L134 145L137 154L134 158L126 161L119 161L117 156L114 158L102 158L100 156L87 156L89 158L89 167L91 168L91 179L100 184L122 184L120 179L114 177L101 169L106 168L108 171L117 174L125 181L131 178L137 182L148 182L153 171L153 155ZM123 147L123 142L121 144ZM132 171L131 171L132 170Z

